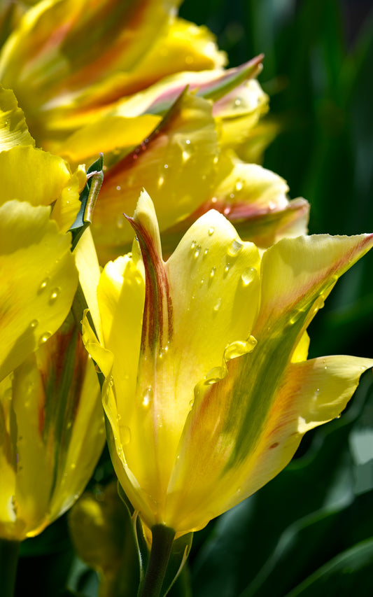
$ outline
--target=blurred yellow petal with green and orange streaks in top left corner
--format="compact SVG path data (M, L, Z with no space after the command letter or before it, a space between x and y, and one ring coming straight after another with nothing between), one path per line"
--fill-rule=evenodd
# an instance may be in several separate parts
M102 78L132 71L158 36L167 34L179 3L48 0L28 10L3 48L0 73L20 101L31 131L40 138L49 116L115 99L113 85L106 97L94 86Z

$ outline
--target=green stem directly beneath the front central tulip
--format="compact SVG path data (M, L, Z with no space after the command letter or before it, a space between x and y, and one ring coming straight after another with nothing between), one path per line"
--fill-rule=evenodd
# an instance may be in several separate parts
M152 548L140 597L160 597L175 538L173 528L156 524L152 528Z

